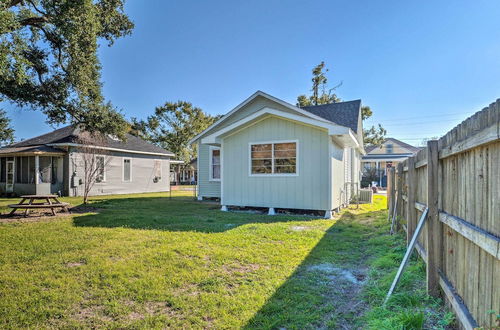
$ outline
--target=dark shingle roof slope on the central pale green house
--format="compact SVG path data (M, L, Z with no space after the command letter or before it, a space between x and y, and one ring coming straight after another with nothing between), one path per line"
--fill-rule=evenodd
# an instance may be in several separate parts
M313 115L329 120L335 124L349 127L358 133L358 121L360 115L361 100L312 105L302 107Z

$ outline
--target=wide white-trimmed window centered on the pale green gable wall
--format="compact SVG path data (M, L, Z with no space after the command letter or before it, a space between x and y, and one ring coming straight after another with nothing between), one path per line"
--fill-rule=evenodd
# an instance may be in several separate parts
M251 174L297 174L297 142L250 145Z

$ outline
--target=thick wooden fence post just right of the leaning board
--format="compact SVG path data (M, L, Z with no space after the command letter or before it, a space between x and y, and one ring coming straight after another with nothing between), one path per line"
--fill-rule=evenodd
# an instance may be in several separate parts
M438 141L427 142L427 293L439 296L439 269L442 269L443 226L438 209Z

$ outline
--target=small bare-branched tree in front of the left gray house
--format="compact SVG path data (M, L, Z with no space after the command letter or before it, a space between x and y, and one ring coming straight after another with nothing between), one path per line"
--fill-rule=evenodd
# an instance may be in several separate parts
M100 133L84 132L78 137L78 159L73 159L73 168L83 172L83 203L89 201L89 194L97 182L104 180L104 173L111 158L106 150L97 147L106 146L106 138Z

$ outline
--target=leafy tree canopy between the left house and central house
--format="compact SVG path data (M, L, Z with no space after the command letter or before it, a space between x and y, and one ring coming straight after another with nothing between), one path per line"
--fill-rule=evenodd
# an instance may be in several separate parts
M172 151L186 164L196 158L196 147L189 140L217 121L189 102L167 102L146 120L132 118L132 133Z

